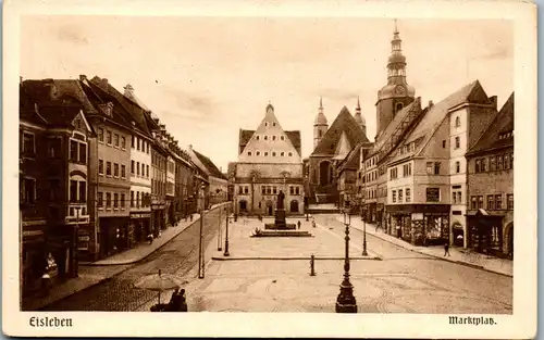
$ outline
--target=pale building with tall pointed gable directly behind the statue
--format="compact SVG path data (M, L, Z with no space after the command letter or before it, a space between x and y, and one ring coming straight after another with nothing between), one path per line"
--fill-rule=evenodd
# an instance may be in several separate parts
M272 104L256 130L240 129L238 150L233 169L235 213L273 216L283 191L287 214L304 214L300 133L285 131Z

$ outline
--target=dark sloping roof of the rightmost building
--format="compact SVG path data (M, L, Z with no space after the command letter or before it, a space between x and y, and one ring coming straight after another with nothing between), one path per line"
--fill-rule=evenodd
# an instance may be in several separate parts
M512 92L485 133L483 133L474 147L467 153L468 155L514 147L514 134L507 138L499 138L502 134L514 131L514 102Z

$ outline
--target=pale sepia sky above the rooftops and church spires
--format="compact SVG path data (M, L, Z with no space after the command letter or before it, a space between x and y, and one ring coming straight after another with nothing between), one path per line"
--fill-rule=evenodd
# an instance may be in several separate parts
M226 172L239 129L255 129L271 102L284 129L313 147L319 99L331 125L357 98L370 140L386 84L394 21L363 17L26 16L24 79L108 78L131 84L180 141ZM435 103L479 79L499 106L514 91L512 24L502 20L397 22L407 81Z

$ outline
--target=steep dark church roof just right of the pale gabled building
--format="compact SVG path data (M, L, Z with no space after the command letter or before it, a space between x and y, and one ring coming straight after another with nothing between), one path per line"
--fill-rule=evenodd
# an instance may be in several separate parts
M344 106L311 155L333 156L343 133L345 133L347 141L351 146L361 141L369 141L359 124L357 124L354 116L349 113L349 110Z

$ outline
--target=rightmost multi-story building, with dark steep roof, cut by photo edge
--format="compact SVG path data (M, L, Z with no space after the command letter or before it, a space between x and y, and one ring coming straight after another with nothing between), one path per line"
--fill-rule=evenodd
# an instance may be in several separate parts
M510 259L514 259L514 108L512 93L466 154L468 237L460 238L475 251ZM463 235L456 231L454 226L454 239L458 240Z

